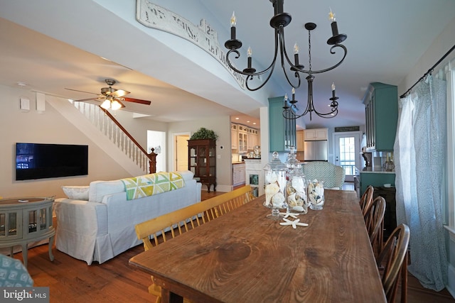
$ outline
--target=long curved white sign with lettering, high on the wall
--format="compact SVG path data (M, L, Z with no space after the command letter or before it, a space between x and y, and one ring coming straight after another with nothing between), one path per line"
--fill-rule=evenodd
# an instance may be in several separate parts
M136 18L142 25L166 31L202 48L230 72L237 83L245 89L245 76L232 70L226 62L226 54L218 43L218 34L204 19L198 26L148 0L137 0Z

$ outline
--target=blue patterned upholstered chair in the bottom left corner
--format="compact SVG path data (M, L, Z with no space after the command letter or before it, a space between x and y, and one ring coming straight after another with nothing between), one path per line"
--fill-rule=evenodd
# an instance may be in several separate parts
M0 287L32 287L33 280L21 260L0 254Z

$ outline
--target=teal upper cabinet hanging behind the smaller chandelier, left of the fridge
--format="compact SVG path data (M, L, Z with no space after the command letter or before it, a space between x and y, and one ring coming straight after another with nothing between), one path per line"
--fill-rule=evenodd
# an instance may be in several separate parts
M269 98L269 148L271 152L296 148L296 121L283 117L284 96Z

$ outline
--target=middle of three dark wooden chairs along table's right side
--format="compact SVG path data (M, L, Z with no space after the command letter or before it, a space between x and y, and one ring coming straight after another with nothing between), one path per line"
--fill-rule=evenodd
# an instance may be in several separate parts
M379 196L368 206L363 216L375 258L378 258L384 243L384 214L385 199Z

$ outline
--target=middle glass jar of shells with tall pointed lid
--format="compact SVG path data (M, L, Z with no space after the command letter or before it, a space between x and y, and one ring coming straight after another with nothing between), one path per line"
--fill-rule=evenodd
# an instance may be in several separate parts
M308 199L306 195L306 180L302 164L296 159L294 148L288 155L286 197L289 211L306 214L308 212Z

